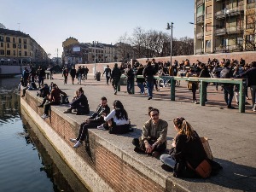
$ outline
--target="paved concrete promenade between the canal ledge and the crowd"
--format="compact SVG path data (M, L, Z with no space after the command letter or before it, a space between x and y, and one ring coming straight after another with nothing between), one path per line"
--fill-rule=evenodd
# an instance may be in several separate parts
M168 122L168 140L177 134L173 128L172 119L177 116L187 119L201 137L209 138L214 160L218 161L224 170L218 176L206 180L177 179L172 177L172 172L161 169L159 160L143 154L134 154L138 155L138 158L148 159L148 162L156 165L157 172L166 174L174 184L178 183L189 191L256 191L256 113L253 113L251 106L246 106L246 113L239 113L236 102L234 106L237 109L226 108L220 86L218 91L215 90L214 85L208 86L208 102L202 107L191 103L192 92L186 88L186 82L181 82L181 86L177 87L176 101L172 102L169 88L154 90L153 99L148 101L147 96L138 93L137 87L134 95L126 93L125 86L121 86L121 91L113 95L113 88L106 84L105 78L102 78L102 81L96 81L92 75L89 75L88 80L82 81L81 85L77 84L77 79L75 84L72 84L70 77L67 84L64 84L61 74L55 74L51 81L65 91L70 100L75 90L80 86L83 87L84 94L89 100L91 113L96 109L102 96L108 98L110 108L114 100L121 101L128 112L131 124L137 128L132 133L132 137L140 136L143 123L148 120L149 106L159 108L160 118ZM49 79L45 80L45 83L49 82ZM199 94L197 97L199 99ZM75 118L82 122L86 117L76 116ZM132 151L132 144L125 144L129 145L129 148L131 146ZM171 142L168 143L168 148L170 145Z

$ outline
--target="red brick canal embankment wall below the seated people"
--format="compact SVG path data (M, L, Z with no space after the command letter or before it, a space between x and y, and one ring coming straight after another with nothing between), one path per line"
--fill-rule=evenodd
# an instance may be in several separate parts
M44 108L37 107L42 102L42 98L34 96L31 92L27 91L26 97L22 97L21 99L26 101L33 109L34 113L38 113L40 116L44 113ZM76 123L76 125L73 125L68 122L67 119L64 119L65 116L61 116L55 108L51 110L50 117L50 119L45 119L45 122L50 125L62 140L84 160L84 163L89 165L114 191L169 191L147 177L143 172L139 172L116 154L113 154L108 148L97 143L97 136L91 131L89 131L90 153L88 154L84 147L74 149L72 147L73 143L70 143L68 138L74 138L79 134L79 124ZM34 120L36 121L36 119ZM88 177L90 177L90 175ZM90 188L93 189L94 186L90 186Z

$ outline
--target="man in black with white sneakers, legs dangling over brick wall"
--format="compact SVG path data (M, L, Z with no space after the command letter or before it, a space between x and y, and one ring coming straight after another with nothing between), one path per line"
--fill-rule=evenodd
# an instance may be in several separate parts
M102 96L101 103L96 108L96 112L80 125L79 137L70 139L71 142L76 143L73 148L79 148L84 140L86 148L89 148L88 128L96 128L98 125L102 125L102 123L105 122L102 113L110 113L110 108L108 107L107 98L105 96Z

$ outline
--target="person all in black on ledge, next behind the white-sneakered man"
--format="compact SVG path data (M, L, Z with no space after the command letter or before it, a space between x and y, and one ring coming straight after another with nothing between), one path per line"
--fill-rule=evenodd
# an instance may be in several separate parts
M87 97L84 96L84 90L79 88L79 96L70 104L70 108L67 108L64 113L72 113L72 110L76 109L77 114L89 114L90 108Z

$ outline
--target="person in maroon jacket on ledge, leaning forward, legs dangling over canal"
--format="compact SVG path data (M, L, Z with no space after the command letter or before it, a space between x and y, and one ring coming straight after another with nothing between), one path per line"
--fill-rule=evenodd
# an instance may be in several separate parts
M49 117L49 108L51 105L61 104L61 94L67 96L67 94L60 90L56 84L53 84L53 89L48 97L49 102L44 105L44 114L42 115L43 119Z

